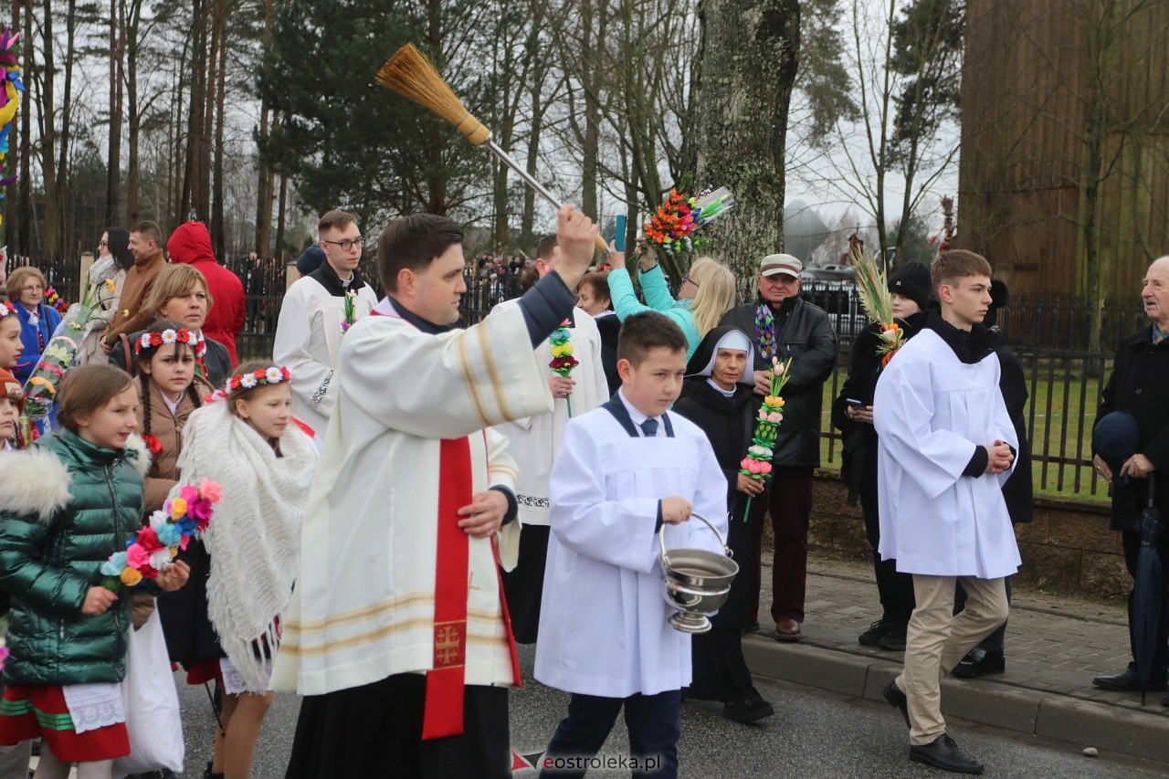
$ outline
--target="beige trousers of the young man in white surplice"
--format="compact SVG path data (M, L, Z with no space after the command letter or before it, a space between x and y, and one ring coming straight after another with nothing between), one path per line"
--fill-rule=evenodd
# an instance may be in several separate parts
M966 608L954 614L954 585L966 590ZM932 743L946 732L941 683L959 661L1007 621L1003 579L913 574L918 605L906 634L905 669L897 687L909 704L909 743Z

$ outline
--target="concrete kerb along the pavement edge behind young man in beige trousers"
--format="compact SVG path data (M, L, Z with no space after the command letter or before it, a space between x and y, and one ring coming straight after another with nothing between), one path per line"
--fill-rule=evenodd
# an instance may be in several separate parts
M881 703L881 688L901 669L900 663L761 635L743 636L742 652L760 676ZM1150 705L1160 710L1157 703ZM1169 718L1107 703L985 678L946 680L942 713L1169 766Z

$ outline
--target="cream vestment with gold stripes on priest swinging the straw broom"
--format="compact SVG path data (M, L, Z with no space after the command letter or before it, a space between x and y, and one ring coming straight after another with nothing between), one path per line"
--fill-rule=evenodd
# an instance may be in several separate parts
M441 335L383 309L392 316L361 319L341 345L274 689L321 695L434 668L441 439L466 436L470 494L514 489L507 441L484 428L552 409L518 306ZM511 684L486 538L470 538L466 609L465 683Z

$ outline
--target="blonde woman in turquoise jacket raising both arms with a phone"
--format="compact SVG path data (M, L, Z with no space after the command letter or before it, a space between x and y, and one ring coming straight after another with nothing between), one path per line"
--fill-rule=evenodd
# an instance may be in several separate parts
M634 282L625 269L625 255L614 251L609 255L613 270L609 271L609 292L617 318L624 322L641 311L659 311L672 319L686 335L686 359L689 360L707 332L713 330L722 315L734 306L734 274L711 257L699 257L683 276L678 288L678 299L670 295L662 266L652 249L641 258L638 278L645 304L637 299Z

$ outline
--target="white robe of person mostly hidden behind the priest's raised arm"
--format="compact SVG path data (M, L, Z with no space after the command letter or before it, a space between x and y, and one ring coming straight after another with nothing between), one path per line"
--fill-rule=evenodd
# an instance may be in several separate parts
M498 311L517 305L518 301L500 303L492 309L492 316ZM593 411L609 399L609 385L604 379L601 365L601 333L593 317L577 308L573 308L573 324L568 329L573 357L580 365L573 371L576 381L573 387L573 416L580 416ZM535 361L544 367L545 381L559 375L548 367L552 361L552 347L547 340L535 347ZM519 480L516 485L516 499L519 503L519 518L524 525L548 525L548 476L552 461L560 451L560 436L568 422L568 399L553 398L555 407L551 414L523 416L514 422L499 425L496 429L511 441L507 454L516 461Z

